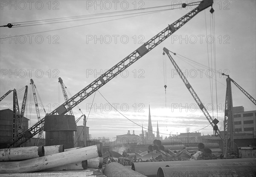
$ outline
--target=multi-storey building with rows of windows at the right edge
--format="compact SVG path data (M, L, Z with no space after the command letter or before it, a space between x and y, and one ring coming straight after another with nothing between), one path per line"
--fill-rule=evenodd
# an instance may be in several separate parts
M233 107L235 133L256 134L256 110L244 111L243 106Z

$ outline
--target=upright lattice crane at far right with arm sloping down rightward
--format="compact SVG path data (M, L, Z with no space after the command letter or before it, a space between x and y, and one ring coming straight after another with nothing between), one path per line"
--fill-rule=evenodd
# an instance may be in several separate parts
M226 75L222 73L222 75ZM225 99L225 111L224 111L224 158L229 157L229 153L236 153L236 143L234 142L234 118L233 118L233 99L231 90L231 81L236 85L236 87L244 93L255 105L256 100L250 96L239 84L237 84L229 75L227 76L227 89L226 89L226 99Z

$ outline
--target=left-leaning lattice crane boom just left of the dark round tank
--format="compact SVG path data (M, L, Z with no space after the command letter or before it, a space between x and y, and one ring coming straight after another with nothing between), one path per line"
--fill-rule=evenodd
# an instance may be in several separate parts
M40 112L39 112L39 108L38 108L38 101L37 101L36 93L35 93L36 86L35 86L33 79L30 79L30 84L32 85L32 92L33 92L33 97L35 100L36 115L38 117L38 121L41 121ZM38 137L35 141L35 145L39 145L39 142L43 141L43 139L44 139L44 132L43 132L44 123L40 124L39 127L41 128L41 131L38 132Z

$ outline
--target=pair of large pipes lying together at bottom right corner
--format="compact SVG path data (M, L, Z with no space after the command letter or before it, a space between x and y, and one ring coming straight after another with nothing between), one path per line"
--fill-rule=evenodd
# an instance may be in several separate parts
M255 158L189 160L172 162L135 162L131 169L147 177L172 176L255 176Z

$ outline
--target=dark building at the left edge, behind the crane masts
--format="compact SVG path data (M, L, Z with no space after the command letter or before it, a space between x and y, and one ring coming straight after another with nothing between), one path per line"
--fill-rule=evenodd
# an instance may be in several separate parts
M29 128L29 119L23 117L23 130ZM12 142L13 136L13 111L10 109L0 110L0 148L7 148L7 145ZM29 142L23 144L29 146Z

